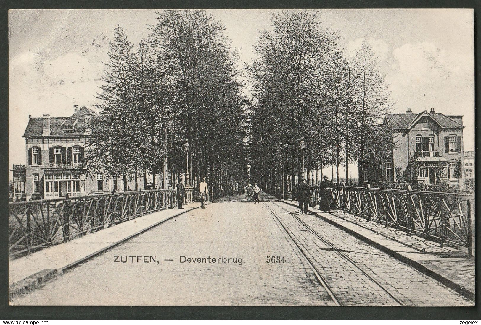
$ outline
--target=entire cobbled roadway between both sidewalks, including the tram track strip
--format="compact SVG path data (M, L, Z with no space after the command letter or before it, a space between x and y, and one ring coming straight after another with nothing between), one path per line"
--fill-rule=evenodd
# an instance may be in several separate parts
M39 289L14 297L13 304L334 305L290 235L342 305L391 306L399 305L398 301L413 306L473 304L319 218L300 215L295 207L281 202L254 205L242 196L230 200L166 221ZM306 225L335 243L336 249L285 209L297 212L296 216ZM371 278L340 256L338 249ZM126 257L129 255L136 257ZM142 256L140 263L138 255ZM142 263L144 255L155 256L159 263ZM115 256L123 256L128 262L114 263ZM180 256L238 260L237 263L180 263ZM285 263L266 263L267 256L284 257Z

